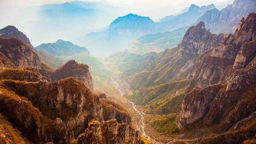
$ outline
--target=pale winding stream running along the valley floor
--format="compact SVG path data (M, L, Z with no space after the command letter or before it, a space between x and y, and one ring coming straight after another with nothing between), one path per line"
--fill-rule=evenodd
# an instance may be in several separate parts
M122 90L120 90L119 84L113 79L113 74L111 75L111 80L114 83L115 88L119 91L120 95L123 96L124 92L122 92ZM138 126L138 124L136 122L137 130L139 130L145 138L150 140L150 142L152 142L154 144L162 144L161 142L156 142L156 140L154 140L153 138L150 138L150 136L148 136L146 134L146 132L144 131L144 128L146 126L146 124L144 123L144 115L145 115L144 112L141 112L140 110L138 110L136 105L133 102L131 102L130 100L128 100L128 102L131 104L131 106L135 110L135 112L137 112L140 115L139 126Z

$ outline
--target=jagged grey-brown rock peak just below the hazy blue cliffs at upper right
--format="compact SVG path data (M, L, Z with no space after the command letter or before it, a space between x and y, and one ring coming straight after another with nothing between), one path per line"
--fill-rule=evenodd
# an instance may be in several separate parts
M196 54L202 54L206 50L217 46L223 34L212 34L204 27L204 22L199 22L196 26L191 26L185 33L183 40L178 44L180 48L179 56L189 59Z

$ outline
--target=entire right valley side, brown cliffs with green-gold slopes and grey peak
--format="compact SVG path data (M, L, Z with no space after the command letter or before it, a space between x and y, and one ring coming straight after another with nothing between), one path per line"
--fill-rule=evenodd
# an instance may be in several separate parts
M123 52L106 60L118 66L119 78L130 84L125 97L154 118L147 122L159 134L171 126L168 134L178 139L242 144L255 138L255 20L250 13L234 34L218 35L201 21L175 48L143 56ZM159 114L173 114L176 124Z

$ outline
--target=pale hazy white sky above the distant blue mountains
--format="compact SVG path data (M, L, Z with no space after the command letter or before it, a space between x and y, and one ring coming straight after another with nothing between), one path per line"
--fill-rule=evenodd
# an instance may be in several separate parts
M64 3L74 0L0 0L0 9L8 6L40 6L43 4ZM98 0L81 0L98 1ZM191 4L198 6L216 4L227 0L106 0L114 6L124 8L128 13L150 16L153 20L158 20L168 14L176 14L183 8ZM230 0L229 0L230 1Z

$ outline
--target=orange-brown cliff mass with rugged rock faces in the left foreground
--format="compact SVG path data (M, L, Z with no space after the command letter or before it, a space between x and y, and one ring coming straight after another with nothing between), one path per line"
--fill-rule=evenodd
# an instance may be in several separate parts
M92 130L89 122L103 118L116 118L123 124L115 120L110 120L114 123L102 122L104 127L95 131L102 134L99 143L108 138L111 143L116 140L117 143L141 143L140 132L125 123L131 123L127 111L111 100L100 100L81 80L66 78L49 82L36 72L12 68L2 68L0 80L1 114L32 143L79 142L79 134L86 128L86 131ZM80 142L86 143L88 139L94 140L94 135L87 135L86 141Z

